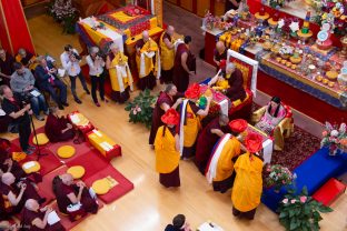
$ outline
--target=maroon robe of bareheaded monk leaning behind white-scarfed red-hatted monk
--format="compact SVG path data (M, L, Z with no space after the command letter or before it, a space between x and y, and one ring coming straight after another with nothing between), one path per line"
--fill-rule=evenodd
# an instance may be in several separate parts
M205 170L208 160L210 159L212 149L219 140L219 137L217 134L211 133L212 129L226 130L225 128L220 127L219 118L216 118L211 122L209 122L199 134L197 140L195 163L202 174L205 174Z

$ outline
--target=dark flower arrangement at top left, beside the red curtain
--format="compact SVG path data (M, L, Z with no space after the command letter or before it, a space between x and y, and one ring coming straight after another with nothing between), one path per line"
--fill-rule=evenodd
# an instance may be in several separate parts
M75 33L75 24L79 12L72 7L71 0L51 0L48 12L56 21L62 23L62 32Z

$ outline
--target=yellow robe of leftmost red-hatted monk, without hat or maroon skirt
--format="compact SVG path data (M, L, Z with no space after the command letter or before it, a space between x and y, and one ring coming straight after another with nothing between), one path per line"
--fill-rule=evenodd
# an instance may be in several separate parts
M159 173L170 173L179 164L180 154L176 150L176 140L168 128L161 125L156 135L155 151L156 151L156 171Z

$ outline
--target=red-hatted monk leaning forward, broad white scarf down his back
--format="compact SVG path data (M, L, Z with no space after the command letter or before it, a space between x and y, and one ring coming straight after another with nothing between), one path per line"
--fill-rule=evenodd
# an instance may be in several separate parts
M234 120L229 123L235 135L244 132L247 125L246 120ZM206 178L209 183L212 183L215 191L225 193L232 187L236 177L234 163L241 152L241 147L238 138L230 133L225 134L217 142L206 172Z

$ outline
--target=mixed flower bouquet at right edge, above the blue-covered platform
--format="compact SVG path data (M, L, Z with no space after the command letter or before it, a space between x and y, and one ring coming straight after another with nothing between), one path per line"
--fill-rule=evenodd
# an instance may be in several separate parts
M328 147L329 154L336 155L338 152L346 152L347 150L347 133L346 123L337 124L326 122L326 129L321 132L323 139L320 147Z

